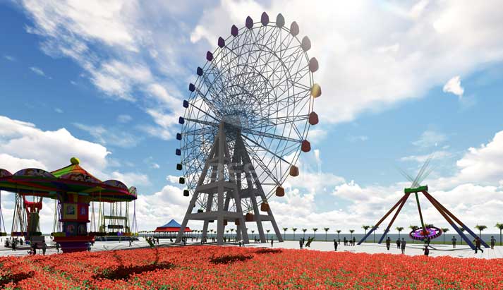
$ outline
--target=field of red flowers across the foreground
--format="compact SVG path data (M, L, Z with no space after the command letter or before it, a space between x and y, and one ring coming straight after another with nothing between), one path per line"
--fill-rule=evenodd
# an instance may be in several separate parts
M186 246L0 258L2 289L503 289L503 259Z

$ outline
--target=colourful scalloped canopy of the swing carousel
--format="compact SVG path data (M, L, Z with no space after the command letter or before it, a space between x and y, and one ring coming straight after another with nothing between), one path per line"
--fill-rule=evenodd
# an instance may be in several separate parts
M11 191L21 195L36 195L59 198L63 193L88 195L91 200L115 202L131 201L137 198L136 188L128 188L118 180L100 181L80 167L78 158L71 164L56 171L43 169L21 169L11 174L0 169L0 191Z

